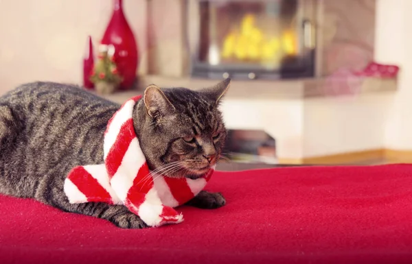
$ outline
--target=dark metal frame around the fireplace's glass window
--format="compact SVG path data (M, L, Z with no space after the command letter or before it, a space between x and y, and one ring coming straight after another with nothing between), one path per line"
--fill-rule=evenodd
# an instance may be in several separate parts
M278 80L299 77L314 77L315 61L316 61L316 30L314 21L317 17L317 0L298 0L299 19L298 32L302 41L299 41L299 50L303 55L299 60L293 63L286 64L277 71L266 70L256 65L246 64L216 64L202 62L198 58L200 52L200 32L201 28L201 2L213 2L220 0L185 0L185 13L187 25L187 47L190 51L190 75L192 77L206 77L209 79L221 79L222 77L231 77L233 79L263 79L263 80ZM230 0L242 1L242 0ZM243 0L253 1L253 0ZM260 0L273 1L273 0ZM210 30L210 29L209 29ZM213 33L213 32L212 32Z

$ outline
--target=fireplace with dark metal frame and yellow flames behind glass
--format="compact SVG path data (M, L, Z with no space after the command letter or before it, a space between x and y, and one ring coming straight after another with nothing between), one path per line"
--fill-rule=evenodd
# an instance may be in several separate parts
M190 74L314 76L315 0L186 0Z

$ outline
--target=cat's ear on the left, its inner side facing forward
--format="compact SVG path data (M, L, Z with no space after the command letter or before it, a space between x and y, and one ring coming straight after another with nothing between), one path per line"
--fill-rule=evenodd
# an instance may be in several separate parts
M150 84L144 91L144 104L150 117L158 118L169 115L175 108L168 97L155 84Z

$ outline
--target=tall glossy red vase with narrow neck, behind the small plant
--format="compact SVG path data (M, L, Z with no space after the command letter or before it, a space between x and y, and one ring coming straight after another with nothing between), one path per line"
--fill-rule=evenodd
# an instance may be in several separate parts
M113 58L119 74L123 77L119 88L121 90L132 88L136 80L139 53L135 36L123 13L122 0L114 0L113 15L101 43L104 45L112 44L115 47Z

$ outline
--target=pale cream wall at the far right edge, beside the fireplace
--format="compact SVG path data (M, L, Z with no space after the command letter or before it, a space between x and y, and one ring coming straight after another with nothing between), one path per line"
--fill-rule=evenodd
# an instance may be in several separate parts
M412 149L412 1L379 0L376 60L401 67L399 91L391 101L385 147Z

